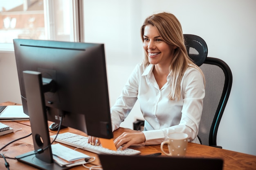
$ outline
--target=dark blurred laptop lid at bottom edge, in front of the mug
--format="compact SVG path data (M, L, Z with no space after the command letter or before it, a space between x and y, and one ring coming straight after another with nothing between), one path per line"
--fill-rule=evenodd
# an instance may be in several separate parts
M103 170L222 170L217 158L99 154Z

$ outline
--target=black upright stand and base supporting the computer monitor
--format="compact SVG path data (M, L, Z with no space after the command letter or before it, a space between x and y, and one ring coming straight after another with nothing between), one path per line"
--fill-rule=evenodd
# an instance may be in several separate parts
M70 167L61 167L55 163L52 156L44 98L44 93L48 91L49 88L43 85L42 74L40 74L40 72L24 71L23 77L34 151L19 155L16 159L43 170L69 169ZM42 153L37 153L42 149L44 149Z

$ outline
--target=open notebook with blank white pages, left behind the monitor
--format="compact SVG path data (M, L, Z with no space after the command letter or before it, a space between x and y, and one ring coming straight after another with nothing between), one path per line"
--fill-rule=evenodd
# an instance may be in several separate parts
M22 105L0 106L0 120L29 120Z

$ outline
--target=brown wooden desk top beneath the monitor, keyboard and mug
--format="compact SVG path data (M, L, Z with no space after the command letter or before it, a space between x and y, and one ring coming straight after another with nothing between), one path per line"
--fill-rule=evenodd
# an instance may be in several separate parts
M1 105L1 104L0 104ZM2 104L4 105L4 104ZM30 122L27 121L2 121L4 124L11 126L14 129L14 133L9 133L7 135L0 136L0 148L5 144L9 143L13 139L17 139L19 137L23 137L31 133ZM51 122L49 122L51 124ZM114 132L114 138L119 136L124 131L133 132L131 129L119 128ZM64 132L72 132L79 135L85 135L85 133L78 131L72 128L62 129L60 133ZM54 135L55 131L50 131L50 135ZM63 144L65 145L65 144ZM67 146L67 145L65 145ZM69 148L74 148L72 146L67 146ZM96 146L97 147L97 146ZM137 149L141 151L141 155L148 155L151 153L161 152L160 145L151 145L144 146L144 144L134 145L130 148ZM29 136L25 139L18 140L13 144L4 148L0 153L4 154L7 157L16 157L23 153L27 153L31 150L34 150L32 137ZM99 158L97 154L88 152L86 150L77 149L89 156L96 157L96 160L90 164L86 164L86 166L92 165L100 165ZM167 146L165 145L164 150L167 152ZM162 154L161 156L164 156ZM214 148L211 146L204 146L200 144L189 143L186 157L206 157L206 158L220 158L224 160L223 170L256 170L256 156L248 155L244 153L238 153L231 150L225 150L220 148ZM7 159L10 164L10 169L26 169L26 170L34 170L36 168L29 166L20 161L16 161L13 159ZM0 169L6 169L4 166L4 159L0 158ZM82 166L76 166L72 168L72 170L82 169Z

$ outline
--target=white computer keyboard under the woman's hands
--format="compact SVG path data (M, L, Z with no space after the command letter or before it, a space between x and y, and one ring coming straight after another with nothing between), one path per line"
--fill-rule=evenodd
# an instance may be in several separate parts
M53 139L56 137L56 135L50 136ZM74 146L76 148L81 148L84 150L88 150L93 153L97 154L112 154L112 155L137 155L141 153L139 150L126 148L125 150L120 150L122 146L120 146L117 150L110 150L108 148L104 148L101 145L99 146L93 146L91 144L88 144L88 137L76 135L74 133L66 132L58 134L56 142L60 142L63 144L67 144L70 146Z

